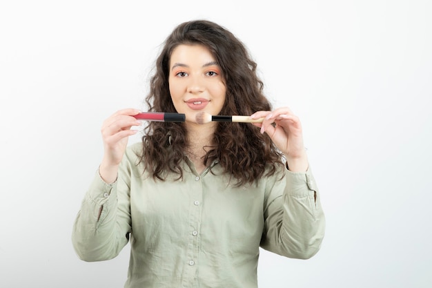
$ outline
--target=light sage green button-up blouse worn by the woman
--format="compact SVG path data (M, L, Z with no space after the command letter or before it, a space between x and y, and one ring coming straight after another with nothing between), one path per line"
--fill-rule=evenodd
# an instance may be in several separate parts
M114 184L95 175L72 231L85 261L114 258L130 240L126 288L256 288L259 247L302 259L320 249L325 220L310 169L235 187L217 161L201 175L185 162L183 180L155 181L137 164L141 147L127 148Z

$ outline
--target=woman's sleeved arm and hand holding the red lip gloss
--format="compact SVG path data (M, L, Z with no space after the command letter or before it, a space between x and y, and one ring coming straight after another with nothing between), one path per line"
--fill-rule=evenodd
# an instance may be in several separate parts
M118 255L130 233L130 161L124 158L128 136L139 125L136 109L117 111L101 128L104 157L81 204L72 230L79 258L107 260ZM117 178L117 175L118 178Z

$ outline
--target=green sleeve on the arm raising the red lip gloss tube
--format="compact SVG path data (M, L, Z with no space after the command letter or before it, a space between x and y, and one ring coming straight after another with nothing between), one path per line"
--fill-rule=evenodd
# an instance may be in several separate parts
M127 167L125 160L114 184L106 184L99 173L90 184L72 229L72 244L81 260L115 258L128 243L131 220Z

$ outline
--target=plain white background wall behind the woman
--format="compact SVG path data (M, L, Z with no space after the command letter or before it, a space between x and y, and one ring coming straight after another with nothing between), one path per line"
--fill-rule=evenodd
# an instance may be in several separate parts
M431 15L429 0L2 1L0 287L123 287L129 246L83 262L72 224L101 123L143 107L159 45L190 19L248 46L302 119L322 193L321 251L262 251L259 286L432 287Z

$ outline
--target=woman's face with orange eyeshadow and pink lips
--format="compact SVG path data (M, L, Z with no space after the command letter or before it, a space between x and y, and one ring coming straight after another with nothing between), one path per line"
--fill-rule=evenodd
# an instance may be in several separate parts
M195 115L217 115L225 102L226 86L221 68L202 45L179 45L170 57L168 83L177 113L195 123Z

